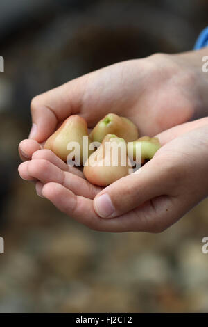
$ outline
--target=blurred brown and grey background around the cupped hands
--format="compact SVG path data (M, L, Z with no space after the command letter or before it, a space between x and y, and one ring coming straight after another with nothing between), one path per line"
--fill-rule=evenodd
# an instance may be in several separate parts
M162 234L94 232L17 175L33 96L111 63L192 49L208 2L0 6L0 312L208 312L207 200Z

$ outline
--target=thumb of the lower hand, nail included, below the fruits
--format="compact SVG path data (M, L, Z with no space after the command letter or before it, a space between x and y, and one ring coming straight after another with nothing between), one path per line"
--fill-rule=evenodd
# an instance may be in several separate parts
M152 159L137 172L107 186L94 199L97 214L103 218L121 216L151 198L165 195L170 174L164 173L163 166L160 158Z

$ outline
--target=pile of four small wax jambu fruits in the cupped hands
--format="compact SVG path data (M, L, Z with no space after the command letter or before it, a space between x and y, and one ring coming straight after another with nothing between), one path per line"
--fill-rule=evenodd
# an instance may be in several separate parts
M159 147L158 138L139 138L135 124L114 113L100 120L90 134L85 119L71 115L44 145L68 164L84 166L86 179L99 186L129 175L135 163L152 159Z

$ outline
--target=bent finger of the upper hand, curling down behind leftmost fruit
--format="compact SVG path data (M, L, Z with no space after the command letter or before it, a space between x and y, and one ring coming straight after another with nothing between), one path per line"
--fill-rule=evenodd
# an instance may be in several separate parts
M81 80L80 80L81 79ZM37 95L31 102L33 126L29 138L46 141L58 122L80 111L85 91L85 77Z

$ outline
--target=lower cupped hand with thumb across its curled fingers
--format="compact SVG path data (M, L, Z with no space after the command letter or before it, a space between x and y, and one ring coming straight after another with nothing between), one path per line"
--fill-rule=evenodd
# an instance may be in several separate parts
M21 163L37 193L93 230L162 232L208 194L208 118L159 134L163 146L138 172L101 189L49 150ZM75 172L76 173L76 172Z

